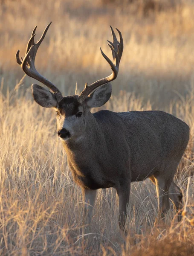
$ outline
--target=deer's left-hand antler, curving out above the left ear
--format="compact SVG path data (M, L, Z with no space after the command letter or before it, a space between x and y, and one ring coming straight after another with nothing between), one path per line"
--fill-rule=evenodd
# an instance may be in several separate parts
M37 26L32 31L32 35L30 40L28 41L27 47L26 47L26 53L25 57L21 58L19 57L20 51L18 50L16 53L16 61L17 63L22 67L23 71L26 73L26 75L40 81L41 83L45 84L47 87L49 87L50 90L52 90L53 93L55 93L56 99L59 102L63 96L60 90L52 84L52 82L48 81L46 78L41 76L41 74L38 73L38 71L35 68L35 57L36 57L36 52L38 50L38 47L41 45L43 39L45 38L46 32L49 29L49 26L52 22L50 22L47 26L46 29L44 29L44 32L39 39L39 41L35 44L35 31Z

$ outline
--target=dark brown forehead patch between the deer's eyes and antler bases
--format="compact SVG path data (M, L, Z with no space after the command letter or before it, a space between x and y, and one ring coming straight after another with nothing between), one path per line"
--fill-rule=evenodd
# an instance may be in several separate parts
M67 96L58 103L58 110L64 116L73 116L83 111L83 106L78 102L77 96Z

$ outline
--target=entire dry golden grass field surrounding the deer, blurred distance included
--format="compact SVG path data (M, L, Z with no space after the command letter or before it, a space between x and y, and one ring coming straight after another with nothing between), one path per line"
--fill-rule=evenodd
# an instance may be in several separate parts
M0 2L0 255L194 255L194 3L111 2ZM32 100L34 80L23 77L14 56L17 49L23 56L35 25L38 38L51 20L36 66L64 95L74 93L76 81L82 90L110 73L99 46L110 56L112 25L125 49L104 108L164 110L190 126L175 177L187 210L179 224L173 207L164 224L156 222L155 188L145 180L132 185L126 239L114 189L99 190L92 232L82 232L81 189L58 140L55 112Z

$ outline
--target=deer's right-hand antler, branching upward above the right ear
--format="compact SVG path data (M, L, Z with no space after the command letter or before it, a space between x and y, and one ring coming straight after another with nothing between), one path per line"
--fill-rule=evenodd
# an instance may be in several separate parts
M113 60L114 60L114 64L113 62L104 54L104 52L102 51L101 47L101 54L102 56L105 58L105 60L110 64L111 69L113 70L112 74L110 76L107 76L105 78L102 78L96 82L94 82L93 84L87 85L87 83L85 84L85 88L84 90L81 92L80 96L79 96L79 102L83 103L84 99L86 99L86 97L96 88L98 88L99 86L106 84L110 81L113 81L114 79L116 79L118 72L119 72L119 63L122 57L122 53L123 53L123 38L122 38L122 34L119 31L119 29L116 29L119 33L119 38L120 41L117 40L115 32L113 30L113 28L110 26L111 32L112 32L112 36L113 36L113 43L108 41L108 46L110 47L110 49L112 50L112 55L113 55Z

